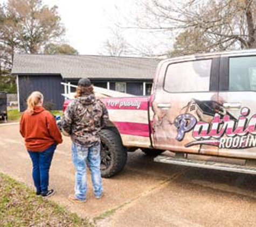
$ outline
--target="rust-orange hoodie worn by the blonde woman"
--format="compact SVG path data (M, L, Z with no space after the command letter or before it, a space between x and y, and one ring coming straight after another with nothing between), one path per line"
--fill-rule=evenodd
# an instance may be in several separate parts
M43 107L34 108L32 114L26 110L19 124L20 134L25 138L25 146L29 151L41 152L63 141L55 118Z

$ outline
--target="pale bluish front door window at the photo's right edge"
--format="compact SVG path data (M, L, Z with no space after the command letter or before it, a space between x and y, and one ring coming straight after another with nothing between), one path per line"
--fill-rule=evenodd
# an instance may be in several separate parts
M256 91L256 56L229 59L229 90Z

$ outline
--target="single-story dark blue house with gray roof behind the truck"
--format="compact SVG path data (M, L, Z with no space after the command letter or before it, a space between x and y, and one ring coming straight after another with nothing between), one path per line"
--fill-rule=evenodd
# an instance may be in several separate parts
M158 62L153 58L100 55L15 54L12 74L17 75L19 111L26 109L26 98L35 90L44 94L45 104L61 110L61 82L77 85L82 77L91 79L94 86L149 95Z

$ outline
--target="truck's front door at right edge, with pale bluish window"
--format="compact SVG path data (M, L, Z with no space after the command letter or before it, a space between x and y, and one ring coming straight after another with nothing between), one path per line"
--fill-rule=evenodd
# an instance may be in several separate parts
M219 101L226 115L219 155L255 159L256 54L223 56L220 72Z

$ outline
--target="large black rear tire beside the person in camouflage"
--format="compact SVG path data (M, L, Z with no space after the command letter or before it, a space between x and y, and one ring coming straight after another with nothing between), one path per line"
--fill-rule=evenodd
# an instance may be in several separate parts
M100 132L101 138L101 176L110 178L121 172L127 161L127 151L119 134L109 129Z

